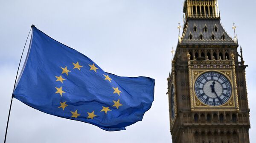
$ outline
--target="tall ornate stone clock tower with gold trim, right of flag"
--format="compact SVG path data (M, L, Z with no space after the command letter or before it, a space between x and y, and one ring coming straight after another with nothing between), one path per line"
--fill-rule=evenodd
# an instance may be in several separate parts
M167 79L172 143L249 143L247 65L236 36L222 27L217 0L185 0L183 12Z

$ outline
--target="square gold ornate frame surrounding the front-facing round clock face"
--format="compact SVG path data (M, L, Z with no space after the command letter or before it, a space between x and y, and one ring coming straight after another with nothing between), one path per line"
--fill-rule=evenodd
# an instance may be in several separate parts
M190 94L190 102L191 102L191 110L192 111L238 111L239 103L238 103L238 94L237 94L237 86L236 86L236 70L234 66L234 61L230 61L230 66L225 66L225 68L221 68L223 66L213 66L210 65L211 62L207 62L207 65L201 64L201 66L192 65L193 61L189 61L189 94ZM199 63L197 63L199 64ZM195 94L195 80L201 76L201 74L206 72L216 72L221 73L226 76L226 78L230 81L232 93L230 99L223 105L220 106L209 106L201 102Z

